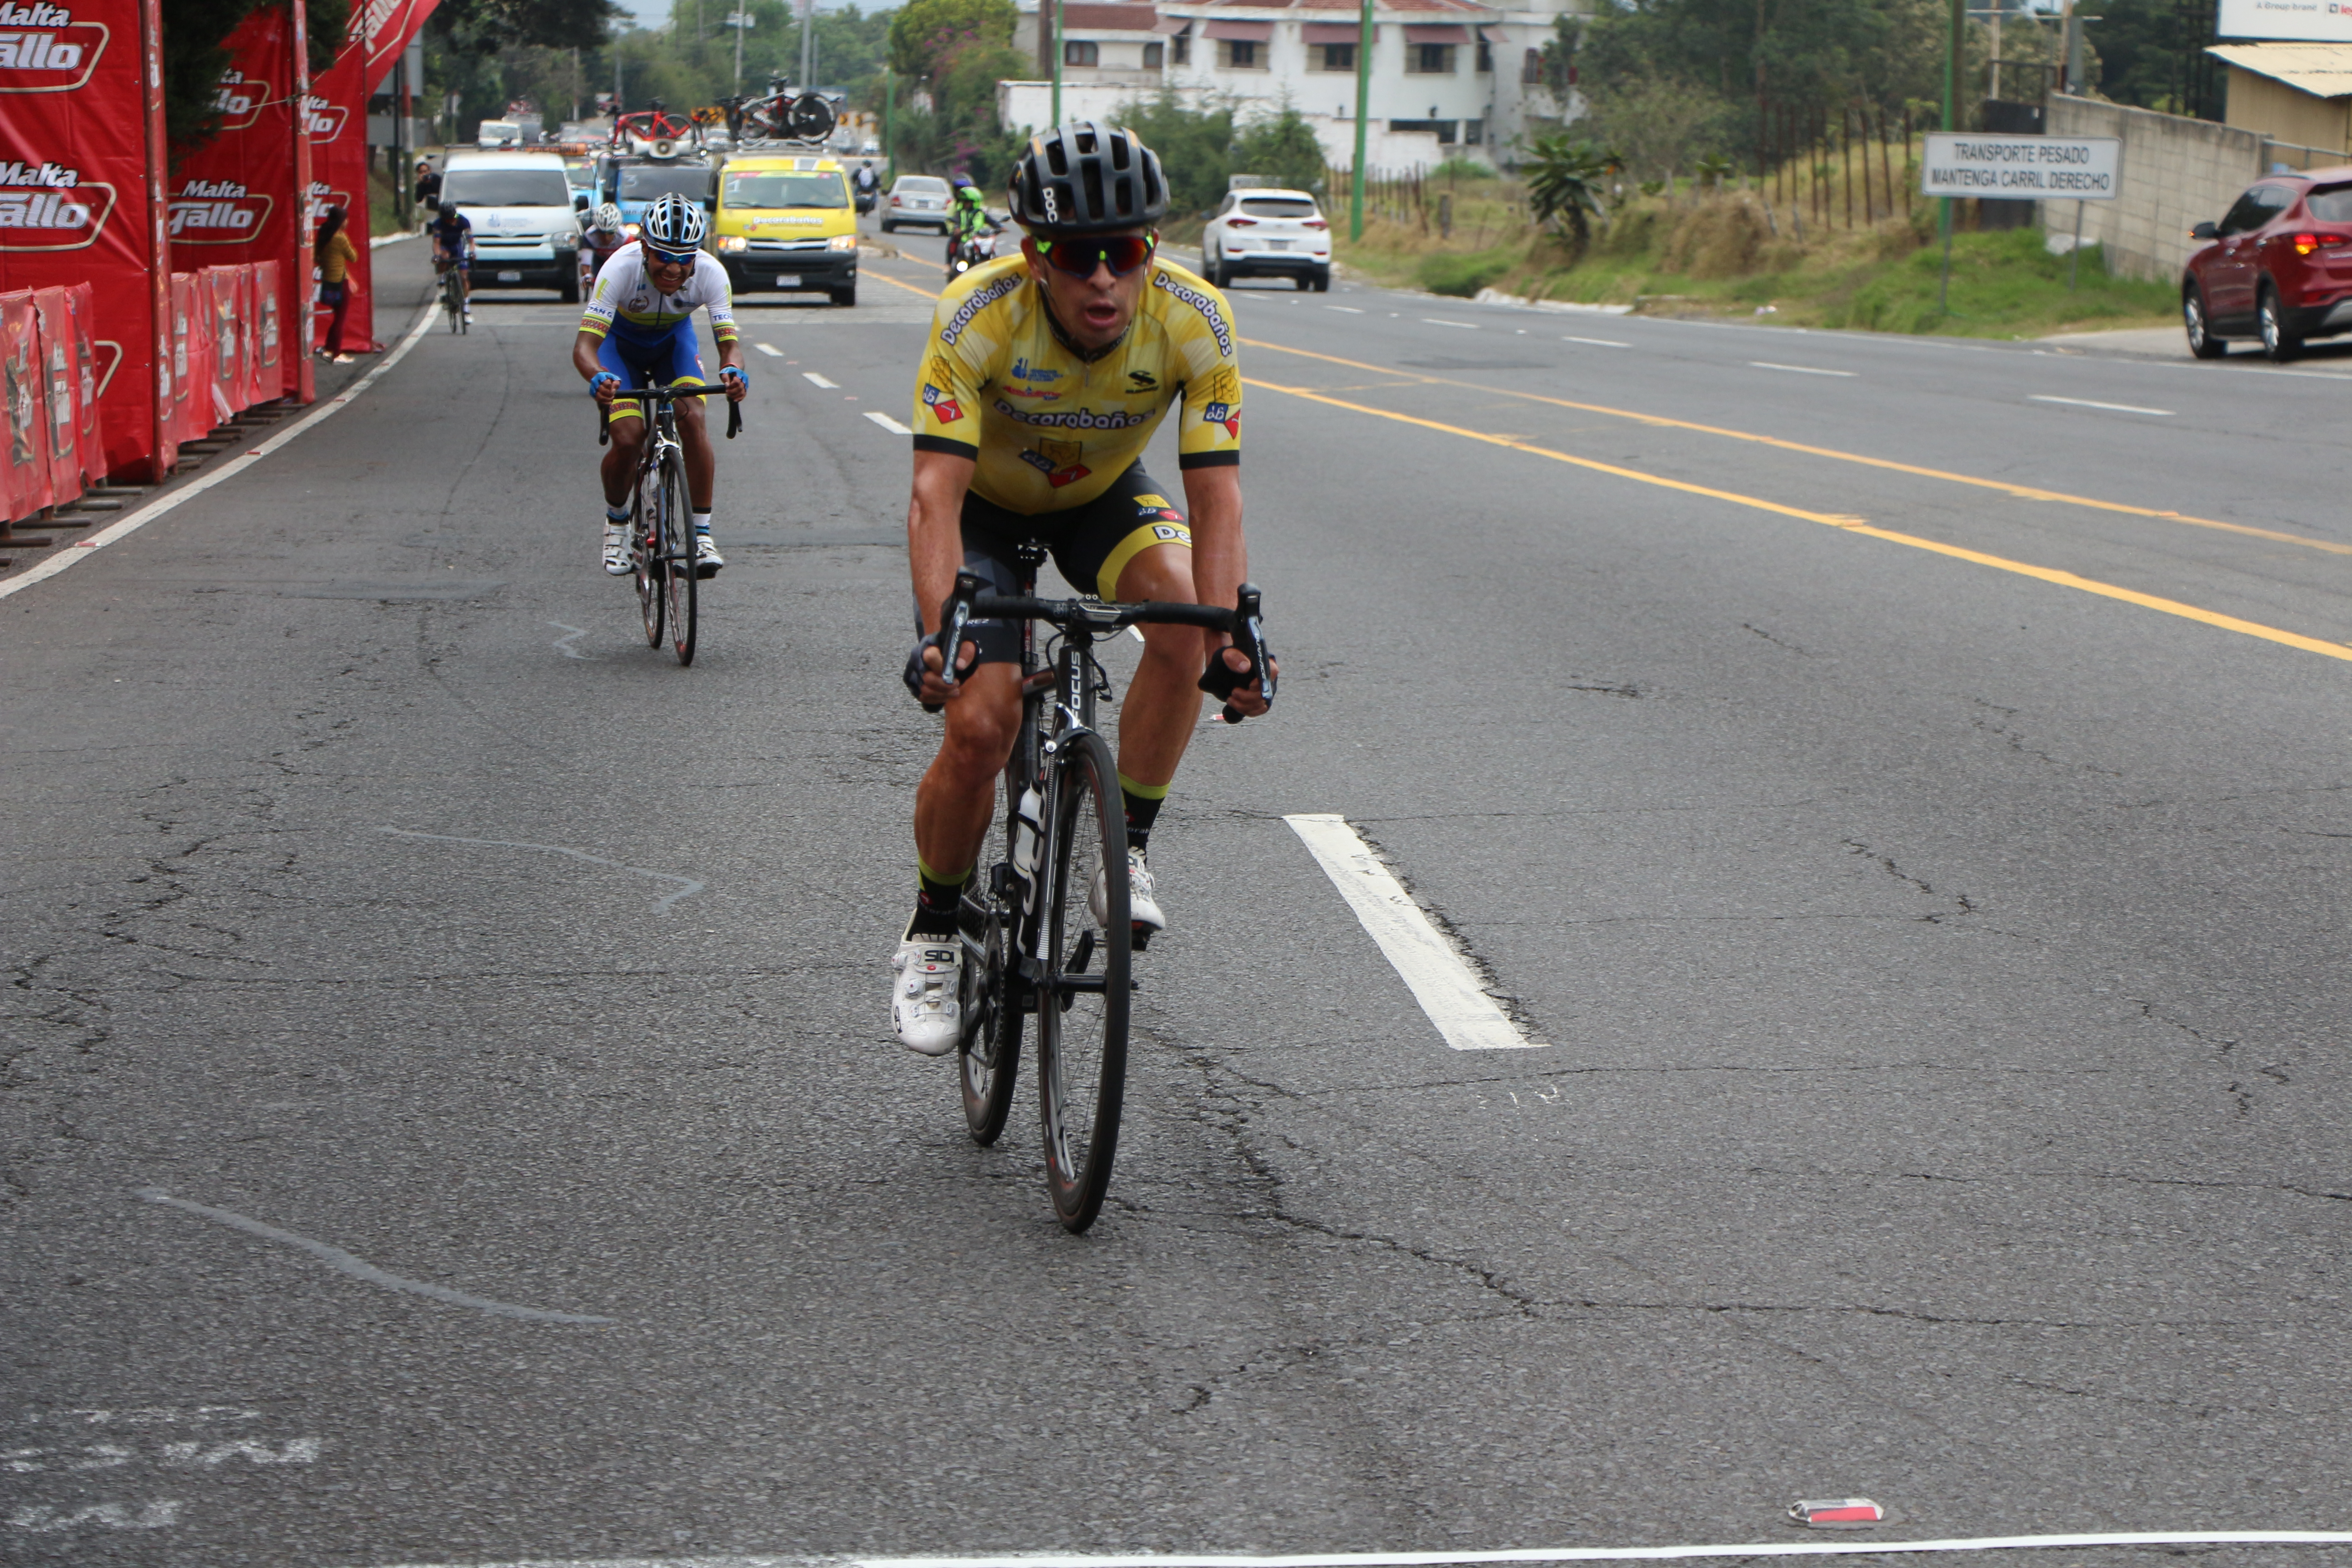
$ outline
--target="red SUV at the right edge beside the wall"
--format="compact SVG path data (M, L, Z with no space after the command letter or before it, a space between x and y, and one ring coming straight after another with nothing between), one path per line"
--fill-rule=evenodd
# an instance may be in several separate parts
M2180 280L2190 353L2218 360L2225 339L2260 339L2293 360L2305 339L2352 331L2352 169L2277 174L2230 205Z

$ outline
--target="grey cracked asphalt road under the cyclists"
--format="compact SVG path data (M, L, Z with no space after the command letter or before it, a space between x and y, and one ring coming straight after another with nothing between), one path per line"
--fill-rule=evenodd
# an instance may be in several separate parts
M2343 367L1237 287L1287 682L1073 1239L887 1034L934 249L746 306L691 670L524 296L0 599L0 1559L2352 1528Z

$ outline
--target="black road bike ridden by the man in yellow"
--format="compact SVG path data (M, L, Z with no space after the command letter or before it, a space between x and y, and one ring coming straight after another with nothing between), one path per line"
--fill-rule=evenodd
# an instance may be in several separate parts
M938 642L950 651L969 621L1021 623L1021 731L1004 764L1004 820L988 827L981 872L964 886L957 922L964 947L957 1077L971 1140L995 1143L1011 1112L1023 1018L1037 1020L1047 1192L1063 1229L1084 1232L1110 1190L1134 952L1150 936L1129 919L1120 769L1094 729L1094 705L1110 698L1110 677L1094 644L1129 625L1197 625L1232 635L1251 668L1265 672L1268 701L1275 677L1258 590L1249 583L1235 609L1040 599L1044 557L1035 541L1018 548L1018 595L985 592L981 578L960 574L941 611ZM1044 668L1040 621L1061 632ZM1240 719L1228 705L1225 722Z

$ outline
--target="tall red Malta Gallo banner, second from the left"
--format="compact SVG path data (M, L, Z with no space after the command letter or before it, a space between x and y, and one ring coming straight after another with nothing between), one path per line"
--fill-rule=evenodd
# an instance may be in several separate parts
M7 0L0 0L7 2ZM303 99L310 52L303 7L270 2L228 35L228 68L214 96L219 134L186 153L172 174L172 266L193 273L240 261L282 261L287 287L310 277L310 136ZM289 296L285 306L301 308ZM287 364L282 393L310 402L310 362Z

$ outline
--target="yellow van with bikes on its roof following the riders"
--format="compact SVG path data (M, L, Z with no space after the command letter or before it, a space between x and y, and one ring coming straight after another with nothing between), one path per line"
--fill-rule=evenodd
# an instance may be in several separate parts
M858 303L858 212L835 158L729 158L710 249L736 294L826 289L835 306Z

